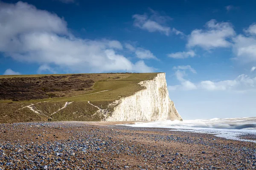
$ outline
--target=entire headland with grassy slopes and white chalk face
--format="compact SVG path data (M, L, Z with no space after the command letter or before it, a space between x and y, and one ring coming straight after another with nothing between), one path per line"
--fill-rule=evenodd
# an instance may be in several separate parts
M165 73L0 76L0 123L182 120Z

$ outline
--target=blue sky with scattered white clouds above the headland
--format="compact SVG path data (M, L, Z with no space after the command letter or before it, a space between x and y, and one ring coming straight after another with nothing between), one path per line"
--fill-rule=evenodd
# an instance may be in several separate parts
M183 119L256 116L255 6L0 0L0 74L166 72Z

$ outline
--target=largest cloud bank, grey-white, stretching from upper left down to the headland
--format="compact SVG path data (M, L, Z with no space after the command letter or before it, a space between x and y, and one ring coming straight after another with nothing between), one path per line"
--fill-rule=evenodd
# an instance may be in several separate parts
M119 54L119 41L75 37L56 14L27 3L0 3L0 16L0 51L20 62L44 65L39 71L49 71L46 65L72 72L154 71Z

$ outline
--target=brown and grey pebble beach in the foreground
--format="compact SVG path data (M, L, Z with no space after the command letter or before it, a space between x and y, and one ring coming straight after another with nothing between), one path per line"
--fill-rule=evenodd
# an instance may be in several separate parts
M10 169L252 170L256 143L102 122L0 124L0 170Z

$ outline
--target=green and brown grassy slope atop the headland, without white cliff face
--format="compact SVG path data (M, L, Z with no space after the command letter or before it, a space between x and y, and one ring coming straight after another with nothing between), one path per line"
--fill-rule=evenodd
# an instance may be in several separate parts
M103 117L96 113L98 108L111 110L110 103L140 91L143 87L139 82L156 76L157 73L2 75L0 123L100 121ZM69 105L63 108L65 104Z

